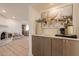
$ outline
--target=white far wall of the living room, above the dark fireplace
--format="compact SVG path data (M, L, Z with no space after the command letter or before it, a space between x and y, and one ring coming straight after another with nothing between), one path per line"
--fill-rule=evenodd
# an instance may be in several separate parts
M3 18L3 17L0 17L0 25L7 25L8 27L6 28L7 29L7 32L10 32L10 33L20 33L21 34L21 25L22 24L25 24L24 22L26 21L21 21L21 20L13 20L13 19L7 19L7 18ZM26 22L27 24L27 22ZM3 30L5 28L3 27ZM1 29L0 29L1 30Z

